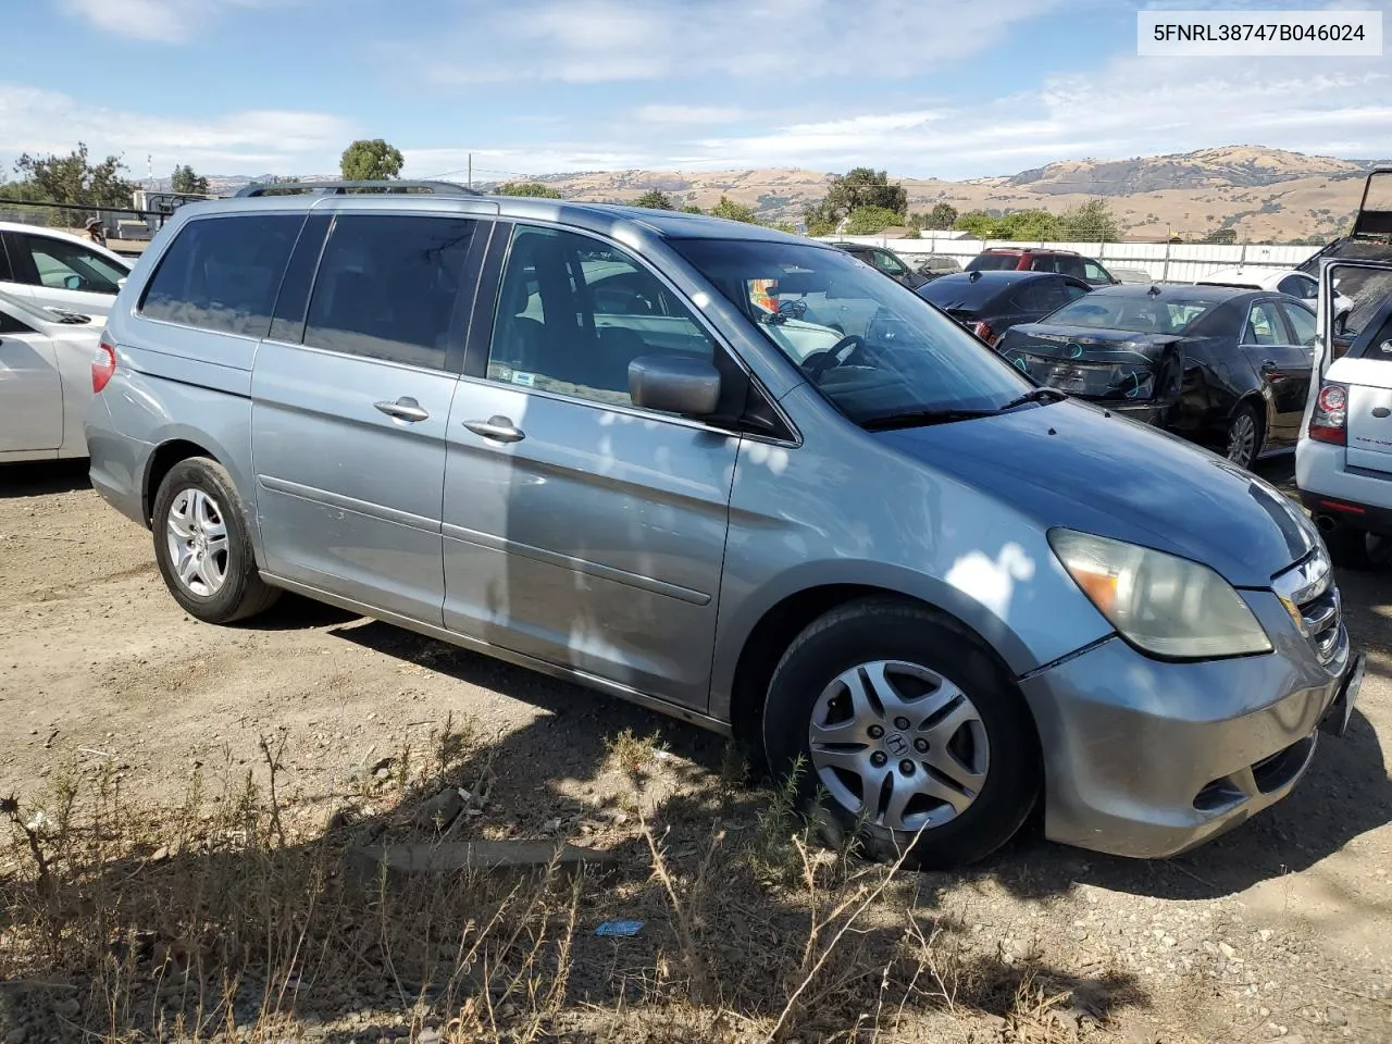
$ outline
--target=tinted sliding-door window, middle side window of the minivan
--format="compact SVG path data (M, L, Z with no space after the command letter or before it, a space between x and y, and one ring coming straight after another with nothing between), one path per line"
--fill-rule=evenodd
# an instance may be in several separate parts
M341 214L315 277L305 344L445 369L477 224L468 217Z

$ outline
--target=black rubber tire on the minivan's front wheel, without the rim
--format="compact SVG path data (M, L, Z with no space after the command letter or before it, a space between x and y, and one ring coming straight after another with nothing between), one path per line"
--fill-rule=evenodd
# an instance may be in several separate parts
M922 869L976 862L1020 828L1038 795L1038 742L1018 688L983 643L915 606L869 601L837 610L793 642L774 671L764 706L763 741L770 770L786 778L798 760L802 806L831 844L856 832L867 855L896 859L913 841L884 827L857 823L820 788L810 760L813 706L842 671L873 660L927 667L962 688L981 714L990 743L990 771L972 806L924 831L906 863Z

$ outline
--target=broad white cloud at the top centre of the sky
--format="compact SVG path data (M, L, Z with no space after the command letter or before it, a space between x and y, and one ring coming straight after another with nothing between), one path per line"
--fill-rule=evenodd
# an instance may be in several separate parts
M920 75L923 63L980 54L1011 25L1062 0L521 0L470 11L461 46L415 42L401 64L434 85L509 81L601 84L725 78L788 82ZM477 42L487 40L486 56ZM447 53L448 61L422 61ZM931 53L931 58L926 56ZM459 57L455 57L459 56ZM782 100L782 99L778 99Z

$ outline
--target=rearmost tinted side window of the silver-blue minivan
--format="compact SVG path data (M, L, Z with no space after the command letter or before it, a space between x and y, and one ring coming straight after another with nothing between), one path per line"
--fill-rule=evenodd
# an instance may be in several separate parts
M180 231L145 290L141 315L264 337L303 214L203 217Z

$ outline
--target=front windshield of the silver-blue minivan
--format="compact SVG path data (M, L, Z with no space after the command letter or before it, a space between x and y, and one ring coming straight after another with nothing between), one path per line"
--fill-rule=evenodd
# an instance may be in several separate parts
M1033 384L913 291L832 248L671 244L856 423L994 411Z

